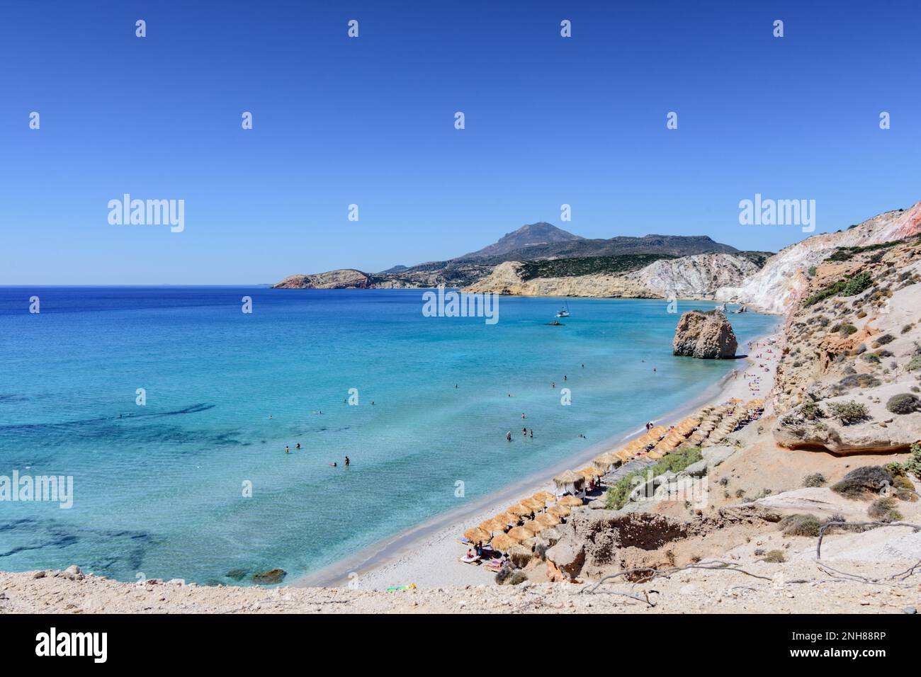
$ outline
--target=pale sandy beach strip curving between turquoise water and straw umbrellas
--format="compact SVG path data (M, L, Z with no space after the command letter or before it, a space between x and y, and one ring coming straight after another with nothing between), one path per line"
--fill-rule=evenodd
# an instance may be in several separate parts
M751 400L766 397L774 384L779 356L781 333L761 337L745 346L748 355L744 368L736 368L717 383L709 386L692 403L653 421L668 426L707 403L724 403L731 398ZM773 352L767 352L773 350ZM367 548L346 560L327 566L306 577L298 578L295 587L341 587L352 589L387 589L415 585L420 589L449 586L487 585L495 574L484 566L461 563L466 547L458 542L461 533L485 519L494 517L508 505L531 494L546 490L554 492L551 477L566 468L578 468L609 450L620 449L624 443L645 432L645 421L637 421L637 429L622 436L604 440L562 461L538 476L472 501L463 508L432 519L409 531Z

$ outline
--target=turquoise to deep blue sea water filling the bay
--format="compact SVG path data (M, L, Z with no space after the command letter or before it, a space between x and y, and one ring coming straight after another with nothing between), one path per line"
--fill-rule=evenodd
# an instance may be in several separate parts
M290 580L634 430L735 367L671 356L678 315L660 300L570 299L563 327L544 324L554 298L501 298L492 326L422 306L419 290L0 288L0 475L74 477L71 509L0 501L0 570ZM729 318L740 352L777 323Z

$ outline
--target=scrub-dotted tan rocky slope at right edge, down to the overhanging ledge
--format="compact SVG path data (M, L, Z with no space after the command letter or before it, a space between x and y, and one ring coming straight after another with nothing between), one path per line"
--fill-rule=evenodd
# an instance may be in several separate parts
M772 394L776 441L835 453L907 449L921 439L921 413L894 403L911 403L921 386L921 239L822 263L803 284Z

